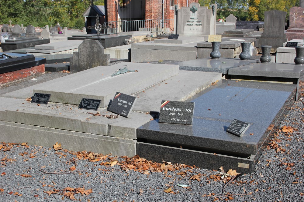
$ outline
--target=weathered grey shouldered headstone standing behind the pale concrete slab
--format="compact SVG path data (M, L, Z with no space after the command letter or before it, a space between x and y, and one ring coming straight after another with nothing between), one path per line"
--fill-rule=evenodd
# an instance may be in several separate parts
M85 39L78 47L78 61L72 61L72 64L77 63L78 70L70 66L71 72L83 71L100 65L110 65L110 54L104 54L103 46L97 40Z

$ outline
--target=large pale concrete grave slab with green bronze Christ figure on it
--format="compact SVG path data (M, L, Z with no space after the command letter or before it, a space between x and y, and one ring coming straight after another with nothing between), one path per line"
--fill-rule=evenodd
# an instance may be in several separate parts
M128 72L111 77L117 69L126 66L128 69L138 70L138 72ZM106 107L117 91L132 95L176 74L178 74L178 65L121 62L116 65L91 68L43 84L3 94L2 97L28 98L37 91L40 93L49 92L46 94L52 95L51 102L78 105L82 98L91 98L102 100L100 107Z

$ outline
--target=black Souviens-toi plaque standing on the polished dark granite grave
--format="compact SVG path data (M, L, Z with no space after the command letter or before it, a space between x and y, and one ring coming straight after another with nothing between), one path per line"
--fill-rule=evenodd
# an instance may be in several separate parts
M192 125L194 102L161 101L159 123Z

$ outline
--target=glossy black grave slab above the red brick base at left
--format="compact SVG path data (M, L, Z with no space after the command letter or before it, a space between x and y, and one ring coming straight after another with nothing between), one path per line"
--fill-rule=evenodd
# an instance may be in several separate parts
M36 66L35 57L33 55L16 53L5 54L13 56L13 58L3 56L3 53L0 53L0 74Z

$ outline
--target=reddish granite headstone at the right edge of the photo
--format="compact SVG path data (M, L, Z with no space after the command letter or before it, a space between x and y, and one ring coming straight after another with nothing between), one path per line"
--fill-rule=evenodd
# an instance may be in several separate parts
M303 39L304 37L304 8L292 7L289 9L289 27L286 32L288 41Z

